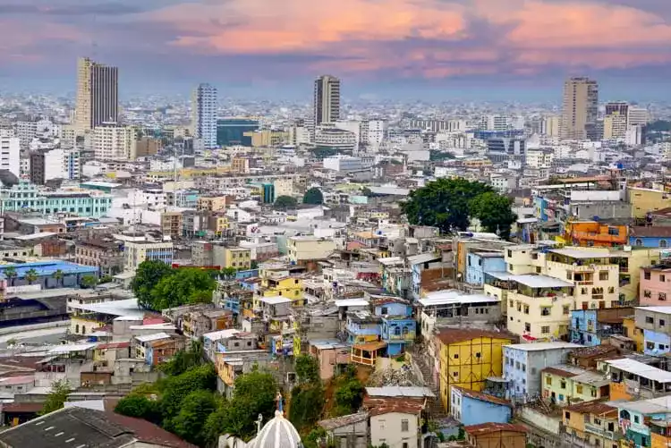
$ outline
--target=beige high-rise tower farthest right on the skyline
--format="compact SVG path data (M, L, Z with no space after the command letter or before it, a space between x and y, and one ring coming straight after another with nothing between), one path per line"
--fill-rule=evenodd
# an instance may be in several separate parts
M571 78L564 84L561 139L600 139L597 129L599 84L589 78Z

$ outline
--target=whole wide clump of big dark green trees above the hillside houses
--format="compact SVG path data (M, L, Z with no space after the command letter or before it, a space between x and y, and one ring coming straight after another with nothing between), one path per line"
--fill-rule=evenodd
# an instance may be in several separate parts
M510 235L514 223L511 202L490 186L465 179L438 179L414 190L402 204L410 224L430 225L441 232L465 231L471 217L478 218L488 232Z

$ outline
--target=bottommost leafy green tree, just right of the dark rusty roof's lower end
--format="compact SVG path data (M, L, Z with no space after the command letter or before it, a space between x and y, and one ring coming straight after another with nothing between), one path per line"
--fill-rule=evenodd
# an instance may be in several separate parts
M171 427L174 433L191 444L204 445L206 435L203 431L208 417L217 409L213 393L194 391L183 400L181 409L173 418Z

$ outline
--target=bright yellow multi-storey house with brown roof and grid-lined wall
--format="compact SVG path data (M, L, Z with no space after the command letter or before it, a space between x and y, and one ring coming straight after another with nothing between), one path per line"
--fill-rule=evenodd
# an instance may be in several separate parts
M447 328L437 334L440 398L447 411L450 387L482 391L488 376L502 375L503 346L514 342L514 337L484 330Z

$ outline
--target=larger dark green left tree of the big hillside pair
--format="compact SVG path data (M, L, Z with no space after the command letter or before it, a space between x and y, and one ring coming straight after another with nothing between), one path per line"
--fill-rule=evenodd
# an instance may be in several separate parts
M464 231L470 223L471 200L493 191L481 182L438 179L413 190L401 207L410 224L435 226L441 232Z

